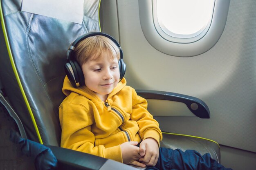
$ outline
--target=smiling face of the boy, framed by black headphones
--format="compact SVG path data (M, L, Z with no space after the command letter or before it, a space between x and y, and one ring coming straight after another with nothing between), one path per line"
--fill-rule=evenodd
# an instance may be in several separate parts
M110 53L102 53L100 59L88 60L81 68L85 77L85 86L105 101L119 82L117 57L111 57Z

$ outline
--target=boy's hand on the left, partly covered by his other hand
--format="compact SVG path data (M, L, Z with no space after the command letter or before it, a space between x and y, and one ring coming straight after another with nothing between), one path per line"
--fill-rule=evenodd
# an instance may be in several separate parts
M137 141L129 141L121 144L123 163L146 167L144 163L140 163L137 161L138 159L143 157L139 155L139 147L136 146L137 144Z

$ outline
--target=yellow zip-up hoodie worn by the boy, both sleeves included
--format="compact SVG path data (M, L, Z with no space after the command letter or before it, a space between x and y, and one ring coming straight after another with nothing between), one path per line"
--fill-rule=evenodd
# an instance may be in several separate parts
M121 82L103 102L86 86L74 88L67 76L59 106L61 147L122 162L120 144L153 138L162 140L159 124L147 110L146 99Z

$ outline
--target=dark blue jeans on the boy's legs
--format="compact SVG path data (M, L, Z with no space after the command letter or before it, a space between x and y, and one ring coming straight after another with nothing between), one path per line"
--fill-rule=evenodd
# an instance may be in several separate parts
M159 148L159 158L154 167L147 167L146 170L232 170L225 168L210 154L200 155L195 150L180 149L172 150Z

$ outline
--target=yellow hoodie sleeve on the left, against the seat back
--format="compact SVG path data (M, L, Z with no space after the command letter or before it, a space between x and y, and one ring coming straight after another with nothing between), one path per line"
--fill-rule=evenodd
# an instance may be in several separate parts
M59 106L59 119L61 147L122 162L120 145L110 148L94 146L95 136L91 131L93 119L85 106L63 102Z

